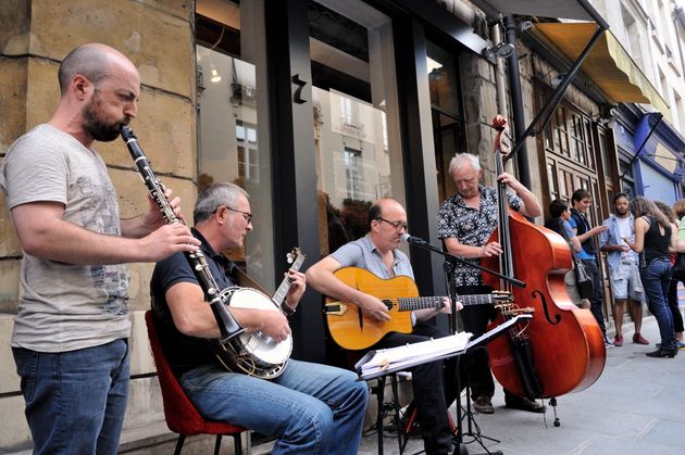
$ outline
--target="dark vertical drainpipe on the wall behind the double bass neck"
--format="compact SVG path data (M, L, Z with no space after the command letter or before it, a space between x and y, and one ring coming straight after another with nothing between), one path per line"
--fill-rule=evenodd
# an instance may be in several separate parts
M519 40L516 38L516 22L512 15L505 17L507 42L513 46L513 52L509 55L509 89L511 92L511 110L513 111L513 131L515 143L521 142L525 131L525 118L523 112L523 97L521 96L521 73L519 72ZM525 142L518 152L519 181L526 188L531 188L531 168L528 166Z

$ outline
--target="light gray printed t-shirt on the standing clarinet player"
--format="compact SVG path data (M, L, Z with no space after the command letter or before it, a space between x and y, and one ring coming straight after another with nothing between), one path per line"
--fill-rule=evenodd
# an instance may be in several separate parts
M116 193L102 159L74 137L43 124L12 144L0 166L8 207L38 201L64 205L63 219L120 236ZM125 265L70 265L24 253L23 294L12 345L39 352L91 347L126 338Z

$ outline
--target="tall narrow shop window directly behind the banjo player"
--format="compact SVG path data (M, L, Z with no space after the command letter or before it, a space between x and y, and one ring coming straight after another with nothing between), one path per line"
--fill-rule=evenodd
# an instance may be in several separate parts
M273 262L271 160L269 149L262 147L269 143L267 131L259 122L266 93L257 83L264 68L241 55L241 49L250 46L256 58L265 59L265 50L256 45L263 42L264 29L242 30L242 16L253 17L252 9L258 8L252 2L197 0L195 4L198 190L229 181L248 191L253 230L244 251L224 253L270 288L274 273L263 264Z

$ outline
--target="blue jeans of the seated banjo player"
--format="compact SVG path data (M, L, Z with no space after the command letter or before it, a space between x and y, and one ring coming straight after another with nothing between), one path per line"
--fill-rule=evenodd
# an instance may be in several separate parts
M357 454L369 390L352 371L290 359L274 380L208 364L180 386L208 419L278 439L272 454Z

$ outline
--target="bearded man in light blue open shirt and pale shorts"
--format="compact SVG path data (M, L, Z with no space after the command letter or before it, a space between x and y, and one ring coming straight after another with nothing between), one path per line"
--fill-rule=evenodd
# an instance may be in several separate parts
M635 218L630 211L627 194L619 193L613 198L614 213L605 219L607 230L599 236L599 249L607 252L609 282L613 294L613 321L616 333L614 346L623 345L623 313L627 302L631 319L635 325L633 343L649 344L640 334L643 327L643 299L645 290L639 278L639 257L623 241L624 237L635 241Z

